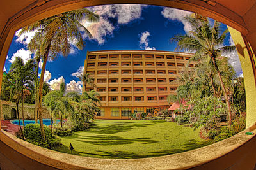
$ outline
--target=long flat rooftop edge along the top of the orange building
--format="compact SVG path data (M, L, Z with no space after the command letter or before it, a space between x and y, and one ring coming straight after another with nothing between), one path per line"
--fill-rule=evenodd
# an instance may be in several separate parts
M171 51L161 51L161 50L99 50L99 51L88 51L89 53L113 53L113 52L148 52L148 53L182 53L188 55L194 55L194 53L185 53L185 52L171 52Z

